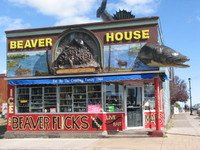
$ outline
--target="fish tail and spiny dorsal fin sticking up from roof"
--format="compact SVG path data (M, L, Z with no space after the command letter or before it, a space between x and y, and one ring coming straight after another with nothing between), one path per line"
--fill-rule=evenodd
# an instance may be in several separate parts
M113 20L121 20L121 19L129 19L129 18L135 18L135 15L133 15L130 12L126 10L119 10L114 14L113 16L108 13L106 10L107 0L102 0L101 6L97 9L97 17L102 18L103 21L113 21Z

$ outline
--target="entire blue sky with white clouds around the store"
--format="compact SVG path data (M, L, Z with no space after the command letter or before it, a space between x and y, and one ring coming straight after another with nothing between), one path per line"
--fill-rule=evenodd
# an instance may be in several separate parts
M101 0L1 0L0 73L6 70L5 30L40 28L101 21L96 9ZM190 58L191 67L175 69L188 84L193 104L200 103L200 1L199 0L108 0L108 11L127 9L139 17L159 16L164 44Z

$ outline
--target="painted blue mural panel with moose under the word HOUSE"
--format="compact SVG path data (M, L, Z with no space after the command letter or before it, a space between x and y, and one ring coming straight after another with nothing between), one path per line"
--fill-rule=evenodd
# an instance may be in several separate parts
M104 46L104 69L108 72L158 70L143 64L138 53L145 43Z

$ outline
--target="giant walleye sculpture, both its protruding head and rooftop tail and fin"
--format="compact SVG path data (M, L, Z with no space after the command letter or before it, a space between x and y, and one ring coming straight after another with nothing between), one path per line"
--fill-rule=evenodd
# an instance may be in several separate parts
M115 15L110 15L106 10L107 0L102 0L101 6L97 10L97 17L103 21L113 21L120 19L135 18L135 16L126 10L119 10ZM160 44L145 44L138 53L137 58L145 65L152 67L178 67L186 68L189 65L184 64L189 58L181 53Z

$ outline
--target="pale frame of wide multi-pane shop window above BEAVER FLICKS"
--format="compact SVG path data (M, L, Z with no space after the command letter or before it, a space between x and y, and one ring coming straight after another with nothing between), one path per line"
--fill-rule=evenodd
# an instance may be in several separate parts
M85 109L86 111L74 111L74 87L79 87L79 86L85 86L85 99L86 99L86 103L85 103ZM99 110L99 112L102 112L103 111L103 83L96 83L96 84L79 84L79 85L40 85L40 86L36 86L36 85L29 85L29 86L16 86L16 90L15 90L15 96L16 96L16 102L15 102L15 112L17 114L38 114L38 113L41 113L41 114L58 114L58 113L70 113L70 114L76 114L76 113L91 113L91 112L88 112L88 105L89 105L89 93L92 93L92 91L88 92L88 88L89 87L92 87L92 86L100 86L100 91L94 91L94 93L96 92L99 92L98 96L100 96L98 98L99 102L98 104L100 105L100 108L98 109L101 109ZM45 112L45 88L49 88L49 87L55 87L56 88L56 92L55 92L55 95L56 95L56 111L55 112ZM62 112L61 111L61 105L60 105L60 88L61 87L71 87L72 88L72 111L69 112L69 111L64 111ZM32 89L35 89L35 88L42 88L42 112L33 112L32 111L32 105L34 104L33 103L33 99L32 97L34 96L34 94L32 94ZM20 93L18 92L19 89L28 89L29 90L29 103L28 103L28 108L29 108L29 111L28 112L20 112L19 111L19 105L18 105L18 97L20 95ZM78 94L78 93L77 93ZM84 94L84 93L83 93ZM95 105L95 104L94 104ZM99 112L96 112L96 113L99 113ZM92 112L92 113L95 113L95 112Z

